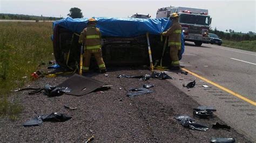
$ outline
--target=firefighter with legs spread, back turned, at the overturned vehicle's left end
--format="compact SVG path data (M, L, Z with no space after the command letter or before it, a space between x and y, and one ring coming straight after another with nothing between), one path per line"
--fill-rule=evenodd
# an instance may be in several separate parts
M106 66L102 58L102 49L100 43L101 33L96 27L96 20L89 18L87 27L81 32L79 43L85 44L83 58L83 72L89 71L91 55L95 56L100 73L106 73Z

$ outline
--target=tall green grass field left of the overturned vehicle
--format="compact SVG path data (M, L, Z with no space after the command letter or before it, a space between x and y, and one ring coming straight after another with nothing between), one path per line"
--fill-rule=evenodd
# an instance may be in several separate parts
M52 23L1 22L0 31L0 116L17 119L22 105L8 99L10 91L23 87L40 63L53 59Z

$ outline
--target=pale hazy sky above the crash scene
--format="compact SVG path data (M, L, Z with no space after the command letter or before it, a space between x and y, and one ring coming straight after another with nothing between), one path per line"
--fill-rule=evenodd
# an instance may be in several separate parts
M159 8L167 6L208 9L211 27L235 32L256 32L256 0L204 0L204 1L81 1L81 0L0 0L0 13L34 16L67 17L70 8L82 10L84 17L131 17L135 13L150 14L156 18Z

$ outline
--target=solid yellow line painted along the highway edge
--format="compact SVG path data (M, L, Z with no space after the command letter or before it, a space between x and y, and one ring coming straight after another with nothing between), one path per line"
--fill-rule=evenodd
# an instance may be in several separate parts
M250 100L250 99L248 99L248 98L246 98L246 97L244 97L244 96L241 96L241 95L239 95L239 94L237 94L237 93L235 93L235 92L233 92L233 91L231 91L231 90L229 90L229 89L227 89L227 88L225 88L225 87L223 87L223 86L221 86L221 85L219 85L219 84L217 84L217 83L215 83L215 82L212 82L212 81L210 81L210 80L207 80L207 78L202 77L202 76L200 76L200 75L198 75L198 74L196 74L196 73L193 73L193 72L190 71L190 70L187 70L187 69L185 69L185 68L181 68L181 69L187 71L187 73L190 73L190 74L192 74L193 76L196 76L196 77L200 78L201 80L204 80L204 81L206 81L206 82L208 82L208 83L214 85L215 87L217 87L217 88L219 88L219 89L222 89L222 90L224 90L224 91L226 91L226 92L228 92L228 93L230 93L230 94L232 94L232 95L234 95L234 96L237 96L238 98L240 98L240 99L242 99L242 100L244 100L244 101L246 101L246 102L248 102L248 103L250 103L250 104L256 106L256 102L254 102L254 101L252 101L252 100Z

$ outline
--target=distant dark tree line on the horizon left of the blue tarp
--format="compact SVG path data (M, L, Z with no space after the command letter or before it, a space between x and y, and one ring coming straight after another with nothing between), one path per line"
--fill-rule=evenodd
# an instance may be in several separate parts
M62 18L0 13L0 19L6 19L6 20L59 20Z

